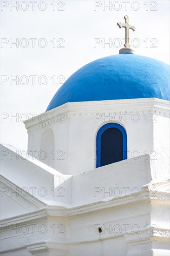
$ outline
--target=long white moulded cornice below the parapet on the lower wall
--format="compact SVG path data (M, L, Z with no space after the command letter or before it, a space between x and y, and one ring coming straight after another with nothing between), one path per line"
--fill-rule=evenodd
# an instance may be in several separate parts
M169 195L167 198L164 197L162 192L159 193L157 191L157 200L164 201L165 203L168 202ZM146 191L143 189L140 190L140 195L135 197L130 195L124 195L120 197L112 197L111 199L102 200L98 202L92 202L84 205L78 205L75 207L65 207L65 206L46 206L45 208L41 208L30 213L26 213L20 216L13 216L7 219L1 220L1 227L3 225L12 225L12 224L21 224L23 222L30 222L32 220L46 218L47 216L58 216L58 217L71 217L71 216L80 216L87 213L95 213L96 211L106 211L110 208L124 208L128 207L128 205L132 204L146 204L155 198L150 197L150 195L146 196Z

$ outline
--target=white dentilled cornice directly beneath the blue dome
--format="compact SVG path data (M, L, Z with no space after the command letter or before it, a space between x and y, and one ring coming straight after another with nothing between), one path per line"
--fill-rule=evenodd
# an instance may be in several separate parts
M127 100L109 100L109 101L81 101L68 102L57 108L51 109L44 113L45 121L40 120L40 115L24 121L28 133L33 129L42 128L52 124L53 122L67 120L72 116L90 116L96 111L113 112L119 114L130 113L156 113L157 115L169 116L170 106L169 101L160 100L157 98L144 99L127 99ZM63 116L61 116L61 114ZM55 117L55 118L54 118Z

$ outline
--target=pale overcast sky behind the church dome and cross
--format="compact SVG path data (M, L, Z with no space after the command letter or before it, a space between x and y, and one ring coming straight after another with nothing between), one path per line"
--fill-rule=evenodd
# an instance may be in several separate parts
M118 54L124 28L135 54L169 64L170 2L0 0L0 141L27 149L23 123L46 111L53 95L80 67ZM109 43L107 43L109 42Z

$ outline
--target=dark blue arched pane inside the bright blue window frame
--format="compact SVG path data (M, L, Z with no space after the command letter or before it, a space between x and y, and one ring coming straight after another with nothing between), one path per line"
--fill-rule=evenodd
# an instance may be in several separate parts
M123 135L118 128L108 128L101 135L101 166L123 160Z

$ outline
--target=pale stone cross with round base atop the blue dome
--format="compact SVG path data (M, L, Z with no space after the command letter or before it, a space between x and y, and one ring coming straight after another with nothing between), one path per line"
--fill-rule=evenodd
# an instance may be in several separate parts
M117 25L119 28L124 27L125 28L125 44L124 48L119 50L119 54L125 54L125 53L134 53L134 50L131 49L130 44L129 44L129 29L132 29L135 31L135 27L129 25L129 17L127 15L124 16L125 23L118 22Z

